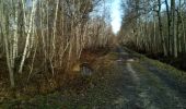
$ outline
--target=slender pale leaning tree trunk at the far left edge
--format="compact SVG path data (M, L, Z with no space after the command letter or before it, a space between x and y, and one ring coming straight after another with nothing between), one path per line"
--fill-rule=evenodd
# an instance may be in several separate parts
M14 58L12 57L12 50L14 51L14 48L12 47L12 43L10 41L11 37L10 37L10 28L9 28L9 16L8 13L10 12L7 8L8 4L13 4L10 1L1 1L0 2L0 7L1 7L1 35L3 37L3 43L4 43L4 48L5 48L5 57L7 57L7 64L8 64L8 70L9 70L9 76L10 76L10 83L11 83L11 87L14 87L15 83L14 83ZM15 24L16 25L16 24ZM16 29L15 29L16 31ZM14 38L13 38L14 39ZM13 40L14 44L14 40Z

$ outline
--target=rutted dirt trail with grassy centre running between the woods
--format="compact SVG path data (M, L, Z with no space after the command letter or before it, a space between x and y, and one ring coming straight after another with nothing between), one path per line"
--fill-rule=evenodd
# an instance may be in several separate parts
M128 76L136 84L132 90L124 89L128 92L128 95L136 95L133 98L127 98L128 102L123 105L123 109L186 109L186 99L178 92L177 88L171 86L168 82L165 82L161 75L156 73L164 73L165 71L153 66L146 61L139 61L139 59L131 53L125 51L118 47L117 52L119 59L126 62L123 68L127 68L124 75ZM117 68L116 68L117 69ZM124 71L118 71L124 72ZM171 72L171 71L166 71ZM126 77L124 77L126 80ZM176 84L176 83L175 83ZM131 86L130 84L125 84ZM123 92L123 93L124 93ZM125 98L128 96L125 95ZM132 104L130 104L132 101ZM135 107L133 107L135 106Z

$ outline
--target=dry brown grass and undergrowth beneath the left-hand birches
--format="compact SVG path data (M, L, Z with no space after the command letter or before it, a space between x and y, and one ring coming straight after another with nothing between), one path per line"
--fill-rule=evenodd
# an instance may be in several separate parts
M90 68L96 69L96 61L100 57L106 55L109 48L84 49L79 63L88 62ZM30 60L27 60L30 61ZM22 75L15 73L15 89L10 88L9 73L5 60L0 59L0 102L3 99L30 98L36 95L45 95L56 90L72 92L80 94L85 92L90 85L90 78L84 78L80 72L65 73L63 69L56 69L56 74L43 70L42 60L34 63L34 70L28 78L30 66L24 68ZM37 68L36 68L37 66ZM26 77L25 77L26 76Z

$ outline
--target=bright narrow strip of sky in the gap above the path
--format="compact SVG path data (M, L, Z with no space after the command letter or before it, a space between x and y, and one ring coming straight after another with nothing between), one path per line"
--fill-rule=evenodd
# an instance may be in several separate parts
M111 17L112 17L112 27L113 32L117 34L121 26L121 13L120 10L121 0L112 0L112 8L111 8Z

